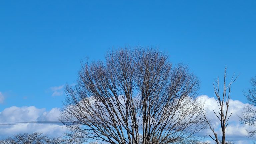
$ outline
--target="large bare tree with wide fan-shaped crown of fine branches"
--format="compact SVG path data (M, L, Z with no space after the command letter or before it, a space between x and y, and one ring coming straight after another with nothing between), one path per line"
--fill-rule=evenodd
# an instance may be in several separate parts
M61 121L84 138L112 144L167 144L205 125L196 111L199 81L155 49L118 49L82 65L66 87ZM193 104L195 105L193 105Z

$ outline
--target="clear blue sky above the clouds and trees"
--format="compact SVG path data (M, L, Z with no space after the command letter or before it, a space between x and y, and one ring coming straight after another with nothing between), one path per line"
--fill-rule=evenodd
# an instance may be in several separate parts
M157 46L173 63L189 64L201 80L239 75L232 99L256 75L256 1L0 1L0 111L10 106L61 107L80 61L103 60L124 45ZM61 91L61 90L60 90Z

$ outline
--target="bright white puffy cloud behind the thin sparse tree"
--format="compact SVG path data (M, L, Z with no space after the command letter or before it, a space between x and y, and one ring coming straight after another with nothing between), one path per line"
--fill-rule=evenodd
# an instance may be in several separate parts
M213 113L213 110L215 112L219 111L217 102L214 97L208 97L207 95L201 95L198 97L198 99L202 102L204 102L204 109L207 114L207 118L211 121L211 123L214 125L214 129L217 132L217 134L220 136L222 134L221 128L220 128L220 121L216 117L216 115ZM246 129L251 129L250 127L246 125L242 125L239 123L238 116L242 114L243 108L245 106L248 106L248 103L242 103L238 100L232 100L229 101L229 113L231 114L231 117L229 119L229 124L226 128L226 140L232 140L235 143L250 143L252 140L251 138L247 137L247 131ZM204 132L207 135L212 135L212 131L208 128Z

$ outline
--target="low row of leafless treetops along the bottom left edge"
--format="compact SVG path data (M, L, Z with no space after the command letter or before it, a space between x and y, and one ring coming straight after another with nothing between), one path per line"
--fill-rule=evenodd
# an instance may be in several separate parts
M85 140L78 137L77 134L67 134L62 137L48 137L46 134L23 133L0 140L0 144L82 144Z

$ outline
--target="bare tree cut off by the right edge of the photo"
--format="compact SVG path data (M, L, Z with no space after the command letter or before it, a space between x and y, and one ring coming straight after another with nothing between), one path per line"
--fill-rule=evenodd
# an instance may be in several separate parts
M244 95L246 96L250 105L244 108L244 112L242 116L239 117L239 120L242 124L254 128L254 130L247 130L249 137L252 137L256 133L256 109L254 108L254 106L256 106L256 76L254 78L252 77L250 82L252 88L244 92Z

